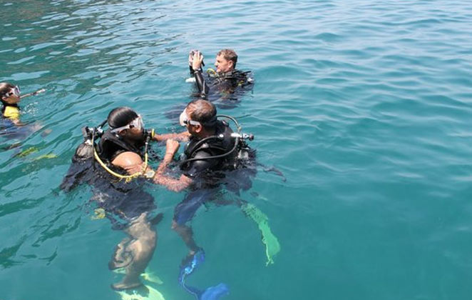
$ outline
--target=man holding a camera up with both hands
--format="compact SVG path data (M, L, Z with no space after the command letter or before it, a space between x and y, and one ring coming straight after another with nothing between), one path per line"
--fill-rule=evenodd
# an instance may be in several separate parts
M195 78L197 97L217 101L220 109L232 108L235 101L252 89L254 80L250 71L236 69L237 54L232 49L222 49L216 55L214 69L207 69L203 74L203 55L198 50L190 51L188 65L190 75Z

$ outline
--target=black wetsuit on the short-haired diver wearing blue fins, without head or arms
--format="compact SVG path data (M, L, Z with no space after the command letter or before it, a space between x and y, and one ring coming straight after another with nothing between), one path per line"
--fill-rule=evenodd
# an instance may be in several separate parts
M180 165L183 174L193 179L193 185L183 201L175 207L174 221L178 224L183 225L190 221L202 204L220 199L221 186L238 193L240 189L249 189L252 185L250 177L255 175L255 168L250 169L247 161L237 159L239 145L227 156L206 159L231 151L235 146L235 139L231 137L231 134L230 126L223 121L218 121L215 138L203 143L200 139L190 139L185 148L185 159L197 160L183 161ZM242 151L248 150L250 149L242 149ZM251 159L255 161L254 151L251 153Z

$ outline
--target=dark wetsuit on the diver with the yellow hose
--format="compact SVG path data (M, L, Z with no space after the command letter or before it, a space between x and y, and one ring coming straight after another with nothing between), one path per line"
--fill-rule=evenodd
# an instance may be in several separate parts
M83 145L78 146L78 150ZM143 157L139 145L140 143L137 145L128 144L119 139L116 134L106 131L96 148L98 155L104 163L108 163L109 168L124 175L125 171L111 166L110 161L125 151L132 151ZM78 150L73 156L72 164L63 179L61 189L70 191L79 184L93 186L91 201L95 201L99 207L106 211L106 216L112 221L113 229L122 229L130 219L156 208L153 196L143 190L145 179L138 177L130 182L119 180L108 174L93 157L81 157ZM117 216L119 218L116 218Z

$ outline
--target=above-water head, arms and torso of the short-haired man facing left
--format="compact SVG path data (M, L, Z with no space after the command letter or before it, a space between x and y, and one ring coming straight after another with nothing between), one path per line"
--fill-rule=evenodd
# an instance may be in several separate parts
M237 169L242 166L243 160L249 159L250 153L254 153L245 143L245 139L252 140L253 136L233 132L226 121L217 118L215 104L210 101L190 101L180 114L179 121L187 131L176 136L180 137L180 141L188 139L184 158L180 161L183 174L179 179L164 174L180 144L173 136L161 136L160 140L167 139L166 154L153 179L156 184L166 186L171 191L182 191L190 185L201 185L202 182L196 179L211 177L215 175L215 171Z

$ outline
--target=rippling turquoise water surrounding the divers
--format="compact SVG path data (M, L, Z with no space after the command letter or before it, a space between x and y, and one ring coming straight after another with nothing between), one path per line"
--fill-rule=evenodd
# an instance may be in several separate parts
M237 116L262 164L242 197L281 251L265 266L257 226L235 206L199 211L207 261L189 282L225 299L469 299L472 294L472 4L469 1L9 1L0 81L43 129L0 155L0 298L120 299L124 237L93 220L91 189L58 189L80 127L132 106L146 126L189 101L187 54L234 48L256 84ZM46 129L51 129L46 134ZM14 141L2 139L2 145ZM161 148L159 151L163 151ZM46 154L56 157L42 158ZM38 159L40 158L40 159ZM154 164L155 165L155 164ZM148 186L158 212L150 270L165 299L186 254L170 229L184 194Z

